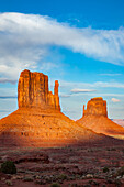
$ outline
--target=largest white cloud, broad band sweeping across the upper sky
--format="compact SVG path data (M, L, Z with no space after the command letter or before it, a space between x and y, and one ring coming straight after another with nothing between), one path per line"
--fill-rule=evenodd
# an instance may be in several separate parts
M53 45L64 46L99 61L124 65L123 28L77 29L48 16L0 13L1 78L15 80L24 68L36 69L38 63L44 67L42 62ZM52 68L50 63L49 66Z

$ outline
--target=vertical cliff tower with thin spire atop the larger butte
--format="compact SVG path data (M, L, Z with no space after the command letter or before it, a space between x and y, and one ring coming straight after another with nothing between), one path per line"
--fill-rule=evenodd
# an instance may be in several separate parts
M53 108L60 110L58 81L55 81L54 95L48 90L48 76L42 73L23 70L18 85L19 108Z

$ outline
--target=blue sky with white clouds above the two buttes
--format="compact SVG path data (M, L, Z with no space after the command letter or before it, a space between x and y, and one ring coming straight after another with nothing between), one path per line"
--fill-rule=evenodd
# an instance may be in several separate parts
M60 82L61 110L82 114L92 97L124 118L123 0L0 0L0 118L18 109L24 68Z

